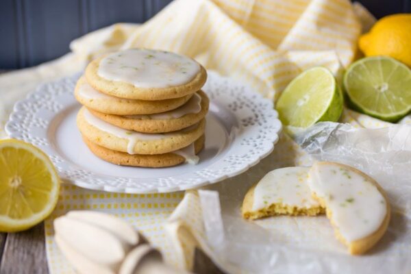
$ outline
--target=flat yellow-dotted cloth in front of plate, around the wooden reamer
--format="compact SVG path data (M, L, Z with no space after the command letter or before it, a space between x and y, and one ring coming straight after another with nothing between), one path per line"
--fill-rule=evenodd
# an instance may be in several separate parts
M86 190L63 183L58 204L45 221L49 272L75 273L53 240L53 220L70 210L97 210L125 219L160 249L166 262L178 266L179 260L164 227L183 197L184 192L133 195Z

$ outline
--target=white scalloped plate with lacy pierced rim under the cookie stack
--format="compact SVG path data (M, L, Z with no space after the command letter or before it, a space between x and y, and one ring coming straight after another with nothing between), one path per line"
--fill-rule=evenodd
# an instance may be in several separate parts
M79 75L40 86L14 105L5 130L45 151L62 179L110 192L171 192L198 188L247 171L271 153L282 128L273 103L247 86L210 72L206 146L197 165L162 169L117 166L100 160L75 125L80 105L73 89Z

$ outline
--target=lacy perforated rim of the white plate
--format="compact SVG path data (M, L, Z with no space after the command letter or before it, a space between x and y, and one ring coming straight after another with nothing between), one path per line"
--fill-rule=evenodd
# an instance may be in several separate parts
M70 77L63 77L61 79L58 79L57 81L42 84L38 86L36 90L29 92L29 94L27 95L27 97L25 97L25 99L17 101L14 104L13 112L12 114L10 114L10 118L8 122L5 124L5 132L8 134L8 136L10 136L10 138L16 138L19 140L30 142L33 145L36 145L36 147L39 147L40 149L42 149L42 151L45 151L43 147L47 147L47 146L52 147L53 145L49 144L49 134L48 134L49 124L47 123L47 121L42 121L42 119L36 116L37 112L34 112L34 110L32 110L30 107L35 108L36 110L44 110L45 108L47 110L50 110L51 112L53 112L53 114L51 114L51 118L49 119L49 121L53 121L53 119L55 119L56 116L61 114L62 111L66 110L68 105L67 104L65 105L66 108L63 108L62 105L60 105L59 107L59 103L55 103L53 100L45 101L44 99L42 99L40 95L49 96L50 98L47 98L47 99L52 99L53 96L56 97L56 96L62 96L62 95L68 95L68 94L73 96L72 90L73 90L74 84L81 74L82 73L75 73L75 75L72 75ZM161 192L175 192L175 191L180 191L180 190L199 188L201 186L206 186L208 184L215 184L229 177L240 175L241 173L244 173L245 171L250 169L252 166L255 166L256 164L258 164L262 159L266 158L266 156L269 155L273 151L273 149L275 148L275 144L279 140L279 133L282 131L282 123L281 121L279 121L278 113L273 107L273 101L262 97L260 93L253 91L253 88L250 88L246 84L240 83L232 79L231 77L222 76L215 71L208 71L208 82L206 83L206 86L207 85L212 86L213 84L215 85L222 84L222 85L232 87L232 89L227 88L227 90L231 90L231 94L234 95L234 97L236 97L235 98L236 101L240 99L238 95L244 95L244 98L241 99L243 100L243 105L239 106L236 104L236 101L233 101L234 104L232 104L231 106L229 106L229 108L227 108L236 117L238 122L240 122L239 114L241 112L241 110L238 110L238 108L240 109L242 107L247 108L247 104L249 105L251 103L250 99L253 99L253 101L258 102L259 107L264 108L264 110L269 112L265 114L260 113L260 116L255 114L255 116L257 116L257 117L254 117L255 121L251 121L251 122L242 121L242 123L245 123L245 124L251 123L251 125L247 125L247 126L255 127L254 130L260 129L259 133L261 134L262 138L264 138L264 141L260 140L260 144L264 143L264 145L262 145L262 147L258 147L259 151L256 157L251 158L251 160L249 160L248 162L245 161L243 164L236 166L236 169L226 171L223 175L217 175L215 177L210 177L208 179L206 179L204 175L201 175L201 180L199 180L198 182L188 182L188 184L178 184L178 185L174 184L174 185L166 185L166 186L157 186L157 187L152 187L152 188L111 186L110 184L103 184L103 182L102 182L102 185L98 185L98 184L92 184L90 182L86 182L84 178L82 179L81 174L77 176L76 178L75 176L69 175L69 173L66 173L64 170L62 170L59 165L59 162L62 160L64 161L64 158L60 157L61 153L58 153L56 149L53 149L53 150L56 151L59 156L50 155L48 152L49 149L46 149L45 153L49 155L49 158L51 158L51 161L53 162L54 166L56 166L56 169L58 170L58 173L61 179L64 179L70 182L71 184L74 184L82 188L88 188L92 190L103 190L106 192L124 192L124 193L140 193L140 194L155 193L155 192L160 192L160 193ZM227 90L225 88L219 88L217 92L212 91L211 93L207 92L207 94L210 97L210 101L212 101L213 99L215 100L216 97L218 97L219 95L226 95L225 92L228 92ZM236 92L234 92L233 90L236 90ZM249 99L249 101L248 102L245 101L244 103L245 99ZM38 100L41 103L38 103ZM221 104L220 101L219 101L219 104ZM223 103L223 105L227 106L227 102ZM264 123L261 121L261 119L264 119L265 116L271 119L269 123L267 121L264 121ZM32 119L33 121L27 121L30 119ZM260 121L258 119L260 119ZM46 132L47 138L39 138L38 136L31 136L31 134L28 132L28 129L30 128L30 126L38 126L41 129L44 129ZM263 126L265 127L264 129L262 129ZM266 130L266 132L264 132L264 130ZM269 134L267 134L267 132L269 132ZM258 136L258 138L261 138L261 136ZM239 137L238 136L234 137L233 142L229 145L229 151L231 151L231 147L236 143L236 138L238 139ZM251 137L251 138L254 138L254 137ZM42 139L46 139L46 140L42 140ZM244 140L244 139L241 139L241 140ZM229 156L229 153L226 153L225 155L223 155L223 157L216 160L216 162L212 162L210 165L206 166L203 170L207 170L208 167L220 161L224 161L224 159L227 158L227 156ZM59 157L63 159L59 159ZM77 166L77 164L75 165ZM195 173L198 173L198 171ZM188 174L191 174L191 173L188 173ZM169 176L169 179L172 181L173 177L175 176ZM120 177L120 178L124 178L125 180L127 179L130 180L130 177ZM134 177L132 179L138 179L138 178ZM154 179L154 178L144 178L144 179L147 180L147 179ZM119 182L121 182L121 180Z

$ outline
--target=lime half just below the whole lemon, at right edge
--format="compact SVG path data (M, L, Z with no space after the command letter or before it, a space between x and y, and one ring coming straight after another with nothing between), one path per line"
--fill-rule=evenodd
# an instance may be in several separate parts
M385 56L363 58L349 66L344 86L353 108L395 122L411 110L411 71Z

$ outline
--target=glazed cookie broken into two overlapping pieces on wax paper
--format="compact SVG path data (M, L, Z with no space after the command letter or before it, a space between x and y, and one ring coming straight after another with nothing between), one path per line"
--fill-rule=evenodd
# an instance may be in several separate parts
M326 213L336 238L351 254L373 247L386 232L390 206L384 190L351 166L316 162L267 173L242 202L245 219Z

